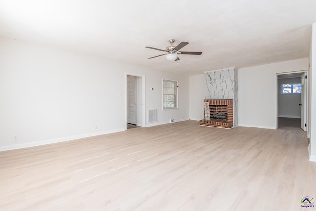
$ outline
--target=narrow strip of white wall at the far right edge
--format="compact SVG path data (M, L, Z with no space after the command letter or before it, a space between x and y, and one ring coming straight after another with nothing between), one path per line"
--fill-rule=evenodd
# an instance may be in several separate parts
M316 161L316 23L312 27L312 38L310 48L310 63L308 81L309 81L309 129L310 138L310 160Z

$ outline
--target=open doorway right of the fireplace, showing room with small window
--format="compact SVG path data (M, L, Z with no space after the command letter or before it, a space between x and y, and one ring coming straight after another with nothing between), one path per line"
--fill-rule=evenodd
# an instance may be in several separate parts
M277 74L276 126L282 129L307 128L307 72Z

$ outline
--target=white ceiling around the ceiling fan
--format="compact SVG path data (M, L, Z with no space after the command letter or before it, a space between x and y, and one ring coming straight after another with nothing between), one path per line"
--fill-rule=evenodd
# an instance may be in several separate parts
M316 0L0 0L0 35L190 75L309 54ZM189 42L180 61L168 39Z

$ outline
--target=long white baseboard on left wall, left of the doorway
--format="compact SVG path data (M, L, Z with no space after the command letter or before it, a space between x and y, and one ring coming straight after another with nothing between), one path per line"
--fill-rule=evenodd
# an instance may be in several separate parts
M76 139L80 139L80 138L87 138L87 137L92 137L92 136L97 136L97 135L105 135L105 134L122 132L122 131L125 131L125 129L108 130L108 131L95 132L95 133L89 133L89 134L83 134L83 135L75 135L75 136L69 136L69 137L63 137L63 138L55 138L55 139L50 139L50 140L24 143L24 144L14 144L14 145L0 147L0 152L7 151L7 150L13 150L13 149L36 147L36 146L41 146L41 145L46 145L46 144L54 144L54 143L59 143L59 142L64 142L64 141L72 141L72 140L76 140Z

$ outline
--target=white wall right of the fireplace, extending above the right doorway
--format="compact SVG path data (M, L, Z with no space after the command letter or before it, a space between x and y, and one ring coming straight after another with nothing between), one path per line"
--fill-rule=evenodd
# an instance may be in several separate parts
M238 125L276 129L276 73L308 70L308 58L238 70Z

